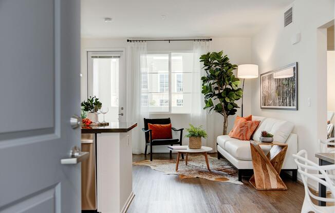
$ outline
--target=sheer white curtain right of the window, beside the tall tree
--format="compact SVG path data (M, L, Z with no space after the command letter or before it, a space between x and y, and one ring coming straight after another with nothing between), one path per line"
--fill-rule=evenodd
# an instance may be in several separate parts
M208 110L203 110L204 97L201 94L202 81L201 77L206 74L202 69L203 63L200 63L200 56L210 52L210 41L194 41L193 46L193 78L192 78L192 109L191 109L191 123L193 125L202 125L206 130L208 138L202 138L202 145L213 148L216 152L216 138L215 138L215 118L214 114L208 114Z

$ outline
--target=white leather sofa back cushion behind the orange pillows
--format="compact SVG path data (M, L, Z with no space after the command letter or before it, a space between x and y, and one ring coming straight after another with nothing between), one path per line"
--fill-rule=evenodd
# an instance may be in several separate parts
M289 121L252 116L252 120L257 119L260 120L260 123L252 138L256 141L259 141L260 133L262 131L267 131L273 135L274 141L285 143L294 127L294 124Z

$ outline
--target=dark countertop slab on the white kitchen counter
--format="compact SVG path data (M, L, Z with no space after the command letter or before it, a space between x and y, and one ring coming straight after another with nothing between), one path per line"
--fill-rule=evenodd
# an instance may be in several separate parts
M81 133L126 133L136 126L135 122L109 122L108 126L82 126Z

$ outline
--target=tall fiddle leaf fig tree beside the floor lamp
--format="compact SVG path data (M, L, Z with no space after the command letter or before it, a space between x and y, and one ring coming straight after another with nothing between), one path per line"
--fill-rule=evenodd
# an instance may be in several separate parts
M201 77L201 93L206 104L203 109L224 116L223 134L227 135L228 116L237 112L239 107L235 101L242 97L243 92L238 88L240 81L233 73L237 65L232 65L227 55L222 54L221 51L201 55L200 62L203 62L206 71L206 75Z

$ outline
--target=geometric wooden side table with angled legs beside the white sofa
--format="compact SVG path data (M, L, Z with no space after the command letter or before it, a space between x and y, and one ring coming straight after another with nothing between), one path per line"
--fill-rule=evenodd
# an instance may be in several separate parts
M261 145L271 145L271 150L266 156L260 148ZM279 176L287 151L286 143L262 143L250 141L252 165L254 174L249 183L257 190L287 190Z

